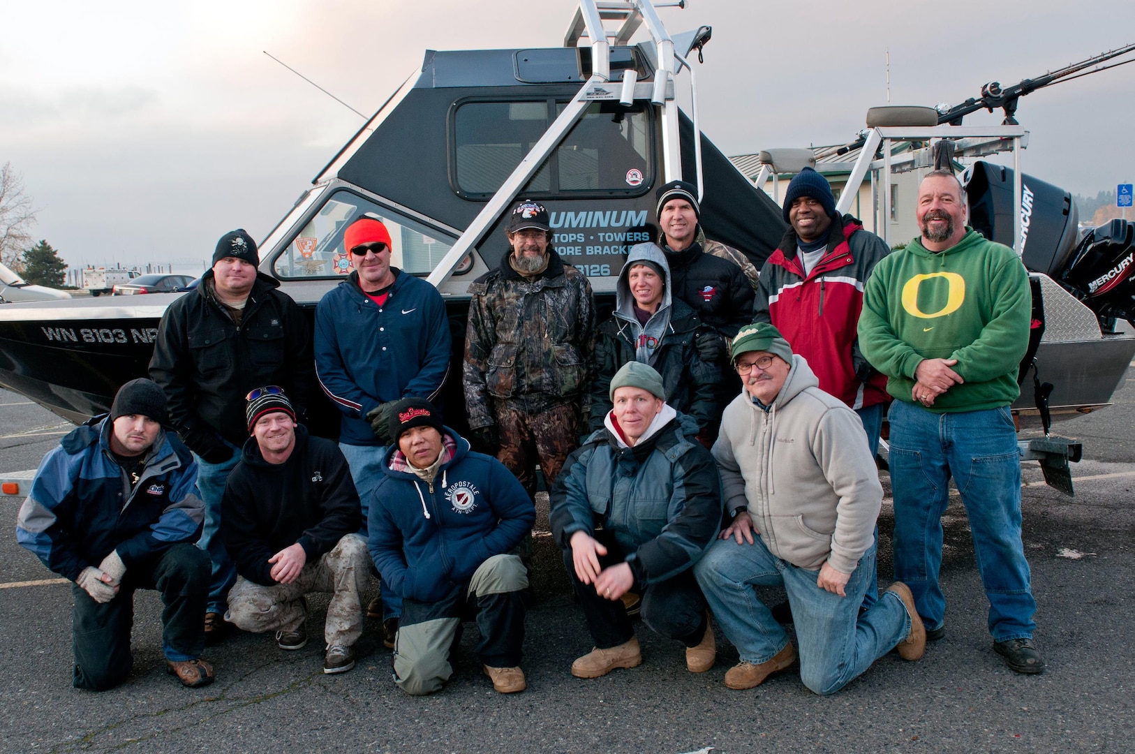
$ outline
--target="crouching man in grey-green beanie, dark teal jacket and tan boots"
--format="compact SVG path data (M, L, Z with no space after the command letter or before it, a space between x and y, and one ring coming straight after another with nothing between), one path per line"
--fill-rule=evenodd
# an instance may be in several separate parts
M646 625L681 640L687 669L705 672L714 635L691 567L721 525L717 469L651 367L624 365L609 396L605 427L568 456L552 489L552 534L595 639L571 672L598 678L642 662L621 598L631 589Z

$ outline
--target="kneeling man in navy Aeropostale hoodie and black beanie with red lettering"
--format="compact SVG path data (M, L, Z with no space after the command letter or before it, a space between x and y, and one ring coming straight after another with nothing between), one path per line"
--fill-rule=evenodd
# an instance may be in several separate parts
M429 401L409 397L390 411L390 438L370 501L370 553L402 597L394 682L432 694L453 675L449 653L461 621L476 617L477 654L502 694L527 687L520 669L528 572L516 545L536 508L491 455L443 426Z

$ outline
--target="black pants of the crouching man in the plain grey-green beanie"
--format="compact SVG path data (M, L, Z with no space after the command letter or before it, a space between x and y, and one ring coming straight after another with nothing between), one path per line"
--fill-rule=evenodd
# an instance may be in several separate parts
M617 566L625 560L613 537L604 536L603 531L596 531L595 536L607 547L607 554L599 555L600 568ZM587 620L587 628L591 632L595 646L599 650L609 650L630 642L634 636L634 629L631 627L631 619L627 617L623 601L600 597L594 584L583 584L579 580L571 547L564 550L564 566L568 568L572 586L575 587L575 594L579 595L583 618ZM705 637L706 601L693 579L692 569L657 584L636 581L631 592L641 595L640 615L642 622L651 630L666 638L678 639L687 647L697 646Z

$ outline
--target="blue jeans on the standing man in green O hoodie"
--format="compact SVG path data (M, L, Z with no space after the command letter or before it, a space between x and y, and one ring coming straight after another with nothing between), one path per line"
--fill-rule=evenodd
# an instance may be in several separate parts
M889 417L894 578L914 592L926 628L945 617L938 573L952 476L969 517L993 640L1032 638L1036 602L1020 538L1020 455L1009 407L933 413L894 401Z

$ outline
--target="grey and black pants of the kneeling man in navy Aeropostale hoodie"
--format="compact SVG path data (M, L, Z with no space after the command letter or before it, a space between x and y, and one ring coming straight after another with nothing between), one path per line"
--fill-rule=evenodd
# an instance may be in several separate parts
M449 653L461 621L474 618L481 662L490 668L520 665L529 601L528 571L518 555L493 555L468 584L454 585L437 602L405 597L394 642L394 682L415 696L440 689L453 675Z

